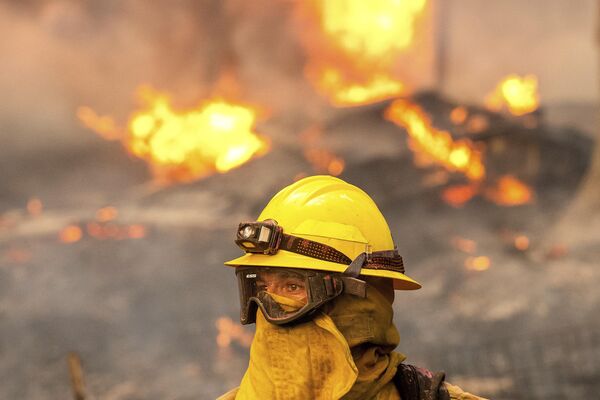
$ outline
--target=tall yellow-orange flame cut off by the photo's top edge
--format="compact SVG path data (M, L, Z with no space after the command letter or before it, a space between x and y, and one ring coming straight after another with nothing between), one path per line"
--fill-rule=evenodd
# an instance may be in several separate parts
M426 0L299 2L298 12L315 25L315 32L304 30L307 78L335 106L404 93L393 64L413 44L425 5Z

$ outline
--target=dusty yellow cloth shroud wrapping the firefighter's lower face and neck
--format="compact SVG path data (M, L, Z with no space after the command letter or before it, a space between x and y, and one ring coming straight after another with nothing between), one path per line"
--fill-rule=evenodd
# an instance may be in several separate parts
M389 299L368 286L366 298L342 294L331 305L290 327L257 311L248 369L218 400L401 400L394 377L406 357L393 351L400 335ZM443 385L451 399L481 399Z

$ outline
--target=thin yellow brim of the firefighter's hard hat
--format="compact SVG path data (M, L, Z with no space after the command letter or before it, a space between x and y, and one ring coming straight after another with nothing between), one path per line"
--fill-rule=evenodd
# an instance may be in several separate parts
M301 268L340 273L344 272L347 268L347 266L343 264L306 257L286 250L279 250L277 254L274 255L244 254L241 257L225 262L225 265L230 267L264 266ZM363 268L361 275L393 279L395 290L416 290L421 288L421 284L419 282L404 275L403 273L396 271Z

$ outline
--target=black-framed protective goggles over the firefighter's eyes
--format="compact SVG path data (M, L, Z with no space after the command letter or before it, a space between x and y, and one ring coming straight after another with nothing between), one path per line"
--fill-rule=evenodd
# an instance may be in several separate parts
M265 319L283 325L302 322L342 293L366 297L366 283L340 273L282 267L237 267L240 321Z

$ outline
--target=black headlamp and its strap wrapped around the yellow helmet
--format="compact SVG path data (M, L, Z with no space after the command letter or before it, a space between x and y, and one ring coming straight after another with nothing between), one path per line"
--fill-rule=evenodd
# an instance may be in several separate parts
M360 275L363 267L404 273L404 263L396 249L364 252L352 260L331 246L283 232L283 228L272 219L240 223L235 243L246 253L273 255L279 250L287 250L319 260L344 264L348 266L344 274L353 277Z

